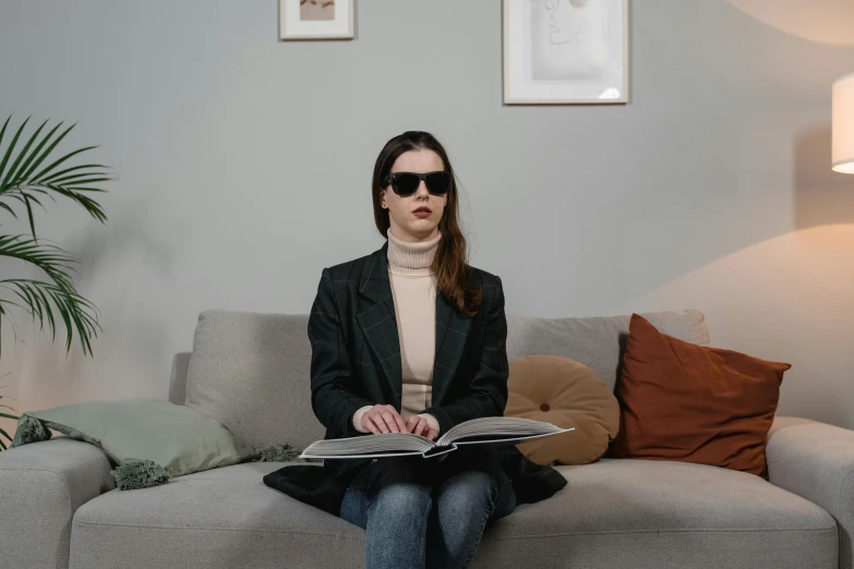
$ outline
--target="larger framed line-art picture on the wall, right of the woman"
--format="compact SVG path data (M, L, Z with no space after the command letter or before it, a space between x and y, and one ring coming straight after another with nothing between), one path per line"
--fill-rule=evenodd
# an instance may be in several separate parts
M504 102L628 102L628 0L504 0Z

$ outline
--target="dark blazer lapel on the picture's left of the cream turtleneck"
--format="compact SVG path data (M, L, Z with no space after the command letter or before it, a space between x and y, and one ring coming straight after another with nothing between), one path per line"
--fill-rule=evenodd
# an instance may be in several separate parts
M383 375L395 394L400 411L404 372L400 362L400 339L397 334L395 302L388 281L388 243L374 252L364 265L359 280L359 292L371 300L371 305L356 315L368 346L373 351Z

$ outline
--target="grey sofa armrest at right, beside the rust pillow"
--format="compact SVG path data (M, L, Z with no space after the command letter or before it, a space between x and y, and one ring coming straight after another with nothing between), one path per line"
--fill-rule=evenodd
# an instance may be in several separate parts
M839 524L839 567L854 568L854 431L774 419L766 447L771 484L808 499Z

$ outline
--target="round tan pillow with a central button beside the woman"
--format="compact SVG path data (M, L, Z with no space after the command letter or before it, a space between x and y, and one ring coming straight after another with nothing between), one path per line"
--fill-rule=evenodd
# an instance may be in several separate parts
M538 464L587 464L601 458L620 428L620 403L596 372L556 355L524 355L509 363L505 416L575 431L516 447Z

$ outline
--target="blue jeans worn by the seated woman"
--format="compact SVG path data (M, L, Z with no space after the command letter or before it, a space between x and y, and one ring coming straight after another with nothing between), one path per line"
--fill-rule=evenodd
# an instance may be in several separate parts
M366 530L365 568L467 567L483 529L516 508L494 448L445 457L381 458L356 475L340 517Z

